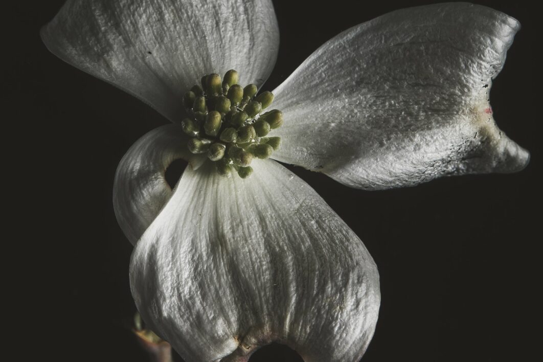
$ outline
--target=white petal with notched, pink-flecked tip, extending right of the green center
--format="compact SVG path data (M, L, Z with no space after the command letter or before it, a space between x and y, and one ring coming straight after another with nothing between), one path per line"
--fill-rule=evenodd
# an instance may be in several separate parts
M529 154L501 132L489 91L520 24L467 3L403 9L348 29L275 91L274 158L351 187L515 172Z

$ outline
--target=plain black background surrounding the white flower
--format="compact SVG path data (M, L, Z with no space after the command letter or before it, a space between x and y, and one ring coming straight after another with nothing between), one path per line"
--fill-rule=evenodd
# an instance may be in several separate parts
M62 3L24 2L4 14L12 30L4 34L3 58L15 62L3 84L10 93L4 227L13 231L2 253L12 346L3 353L15 348L17 360L143 362L130 332L132 247L113 215L112 182L130 145L167 120L46 50L39 29ZM268 90L340 31L433 2L274 3L281 46ZM519 1L475 3L522 24L491 104L500 128L531 151L525 170L364 192L289 166L356 232L380 269L380 319L364 362L522 361L540 342L531 331L541 325L534 48L540 24L535 9ZM295 360L285 351L267 348L251 361Z

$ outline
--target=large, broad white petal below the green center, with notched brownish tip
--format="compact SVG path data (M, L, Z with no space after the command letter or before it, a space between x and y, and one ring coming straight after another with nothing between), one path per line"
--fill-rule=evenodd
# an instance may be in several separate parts
M273 341L357 361L380 303L374 261L304 181L271 160L251 166L246 180L210 162L185 170L132 254L143 319L189 361L246 361Z

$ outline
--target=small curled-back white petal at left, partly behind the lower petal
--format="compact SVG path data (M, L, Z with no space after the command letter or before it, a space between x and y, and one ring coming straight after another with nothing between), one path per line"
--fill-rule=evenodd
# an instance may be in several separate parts
M164 177L173 161L182 158L197 169L205 156L187 149L181 127L168 124L141 137L123 156L113 183L113 209L125 236L136 244L172 195Z

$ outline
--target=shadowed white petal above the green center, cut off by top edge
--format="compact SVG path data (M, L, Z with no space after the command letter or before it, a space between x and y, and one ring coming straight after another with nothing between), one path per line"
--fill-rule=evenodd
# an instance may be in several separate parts
M41 36L62 60L172 122L204 74L233 68L260 86L279 49L270 0L68 0Z

